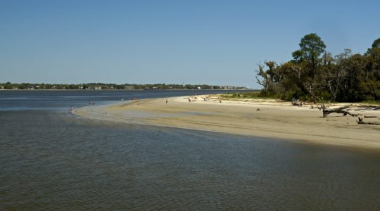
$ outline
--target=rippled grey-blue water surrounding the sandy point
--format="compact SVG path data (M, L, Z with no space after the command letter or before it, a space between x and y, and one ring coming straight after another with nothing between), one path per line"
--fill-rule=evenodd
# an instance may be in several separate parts
M0 210L380 210L380 153L68 113L189 94L0 91Z

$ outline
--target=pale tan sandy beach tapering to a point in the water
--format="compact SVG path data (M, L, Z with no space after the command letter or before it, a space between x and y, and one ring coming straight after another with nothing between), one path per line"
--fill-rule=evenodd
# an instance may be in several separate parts
M353 109L352 112L380 117L379 110ZM289 102L274 100L236 101L218 99L217 96L182 96L86 106L72 110L72 113L113 122L380 150L379 125L357 124L357 117L336 113L322 117L321 110L310 106L291 106ZM375 120L379 121L378 118Z

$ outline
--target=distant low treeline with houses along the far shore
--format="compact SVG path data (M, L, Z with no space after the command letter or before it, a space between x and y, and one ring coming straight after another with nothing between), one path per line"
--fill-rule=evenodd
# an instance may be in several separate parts
M245 87L210 86L206 84L32 84L0 83L0 89L245 89Z

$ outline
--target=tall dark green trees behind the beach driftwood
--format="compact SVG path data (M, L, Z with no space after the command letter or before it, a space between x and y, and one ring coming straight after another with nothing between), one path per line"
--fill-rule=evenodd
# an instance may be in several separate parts
M314 103L380 101L380 38L363 55L345 49L332 56L325 49L317 34L308 34L292 60L258 65L261 95Z

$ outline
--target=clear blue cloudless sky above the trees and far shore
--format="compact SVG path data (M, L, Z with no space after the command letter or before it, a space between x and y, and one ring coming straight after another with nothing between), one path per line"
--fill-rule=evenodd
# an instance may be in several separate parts
M260 88L305 34L336 55L380 37L380 1L0 0L0 82Z

